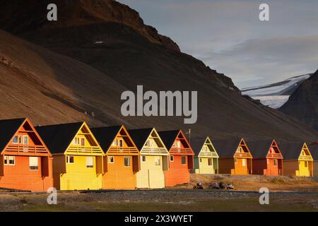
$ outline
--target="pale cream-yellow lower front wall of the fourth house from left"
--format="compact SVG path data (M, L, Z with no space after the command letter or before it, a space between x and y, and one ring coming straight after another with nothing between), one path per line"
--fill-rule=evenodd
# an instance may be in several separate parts
M165 174L163 173L163 156L144 155L146 162L140 159L141 170L137 172L137 188L162 189L165 187ZM160 158L160 165L155 165L155 159Z

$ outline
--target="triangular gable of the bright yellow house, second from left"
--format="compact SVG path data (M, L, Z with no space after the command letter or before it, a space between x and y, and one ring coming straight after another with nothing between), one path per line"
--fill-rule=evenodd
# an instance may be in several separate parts
M69 143L69 146L66 148L64 155L78 153L78 149L76 148L76 150L74 150L74 148L72 147L72 142L76 138L76 136L85 136L86 140L90 143L90 146L91 146L91 148L88 148L90 150L86 150L86 148L80 147L82 155L87 155L87 154L103 155L104 154L102 151L102 148L100 147L100 144L96 140L92 131L90 131L88 124L86 124L86 122L84 121L81 127L76 132L76 134L71 138L71 142Z

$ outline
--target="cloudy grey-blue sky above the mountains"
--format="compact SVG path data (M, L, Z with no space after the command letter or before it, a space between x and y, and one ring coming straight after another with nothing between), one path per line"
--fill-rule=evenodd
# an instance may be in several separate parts
M318 69L317 0L119 0L238 88ZM259 20L260 4L269 21Z

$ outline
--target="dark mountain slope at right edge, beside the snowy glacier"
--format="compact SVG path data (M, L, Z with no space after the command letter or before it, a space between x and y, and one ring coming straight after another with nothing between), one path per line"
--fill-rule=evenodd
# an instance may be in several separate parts
M318 131L318 71L302 83L279 110Z

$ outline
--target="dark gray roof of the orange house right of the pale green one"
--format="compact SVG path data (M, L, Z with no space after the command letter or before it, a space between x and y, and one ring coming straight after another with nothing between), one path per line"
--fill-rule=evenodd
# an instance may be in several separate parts
M213 146L216 148L219 157L231 158L234 157L242 138L232 138L230 140L213 141Z

